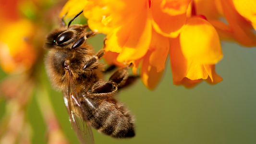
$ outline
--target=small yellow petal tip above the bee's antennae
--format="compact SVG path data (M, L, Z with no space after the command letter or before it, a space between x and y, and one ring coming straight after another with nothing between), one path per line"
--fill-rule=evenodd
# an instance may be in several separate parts
M78 12L82 11L85 8L85 5L88 3L87 0L69 0L61 10L60 17L64 14L66 17L71 17L76 15Z

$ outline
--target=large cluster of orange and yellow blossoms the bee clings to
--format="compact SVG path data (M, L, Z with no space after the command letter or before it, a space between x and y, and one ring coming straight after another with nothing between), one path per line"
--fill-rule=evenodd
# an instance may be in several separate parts
M202 79L210 84L222 80L215 72L215 64L223 57L219 39L255 46L250 24L255 24L255 9L251 6L245 12L249 3L255 2L69 0L60 16L66 12L72 16L84 8L90 29L107 34L106 61L116 65L133 62L133 72L140 67L141 79L149 89L157 85L168 52L173 84L192 87ZM220 22L220 17L229 25Z

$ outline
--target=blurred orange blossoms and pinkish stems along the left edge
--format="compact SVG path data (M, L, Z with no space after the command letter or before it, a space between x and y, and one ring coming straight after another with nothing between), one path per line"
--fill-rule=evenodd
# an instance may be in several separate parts
M6 111L0 123L0 144L32 144L33 128L27 119L27 109L35 89L48 126L48 144L68 144L46 88L40 85L39 64L42 65L42 45L48 26L41 19L49 19L50 13L43 13L47 2L0 0L0 66L9 74L0 82L1 96L6 99Z

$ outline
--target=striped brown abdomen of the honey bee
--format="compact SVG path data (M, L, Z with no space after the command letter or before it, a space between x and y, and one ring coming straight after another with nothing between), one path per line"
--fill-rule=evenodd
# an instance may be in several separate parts
M84 108L91 126L112 137L133 137L134 121L119 102L84 97Z

